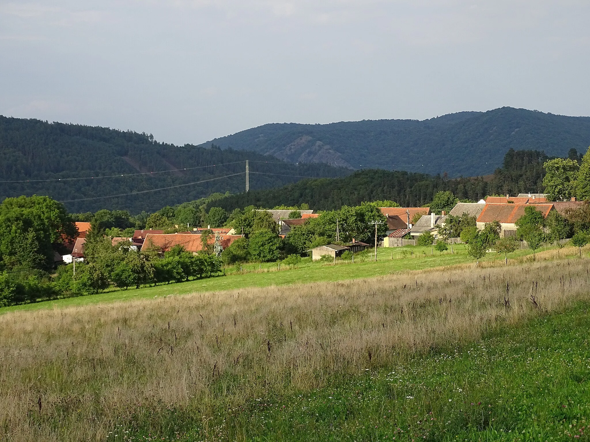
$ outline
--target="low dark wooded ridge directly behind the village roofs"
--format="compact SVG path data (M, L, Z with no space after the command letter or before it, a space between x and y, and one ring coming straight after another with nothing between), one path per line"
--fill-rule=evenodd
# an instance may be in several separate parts
M581 154L572 149L569 158L581 161ZM445 179L423 173L388 170L360 170L336 179L310 179L280 189L265 189L231 195L208 204L231 212L245 206L300 206L310 209L334 210L342 205L358 206L363 201L393 200L404 207L419 207L432 201L440 190L450 190L459 199L477 201L493 194L542 193L548 160L535 150L509 150L502 167L493 176ZM207 210L208 210L207 209Z

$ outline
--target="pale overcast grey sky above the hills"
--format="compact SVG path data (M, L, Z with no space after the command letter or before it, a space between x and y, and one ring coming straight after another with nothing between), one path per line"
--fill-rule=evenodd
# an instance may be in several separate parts
M590 115L590 1L0 0L0 114L201 143L504 105Z

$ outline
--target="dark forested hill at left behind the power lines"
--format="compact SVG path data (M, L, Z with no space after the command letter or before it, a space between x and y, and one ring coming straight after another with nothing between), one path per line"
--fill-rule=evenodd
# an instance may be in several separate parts
M301 176L338 177L351 173L349 169L327 164L283 163L274 157L248 151L158 143L150 135L132 131L0 116L0 201L9 196L32 194L48 195L59 201L77 200L238 174L157 192L65 203L70 212L99 209L153 212L162 206L196 200L213 192L242 192L246 159L250 160L250 188L253 190L283 186ZM191 167L201 169L151 173ZM120 174L136 175L51 181ZM24 182L6 183L15 180Z

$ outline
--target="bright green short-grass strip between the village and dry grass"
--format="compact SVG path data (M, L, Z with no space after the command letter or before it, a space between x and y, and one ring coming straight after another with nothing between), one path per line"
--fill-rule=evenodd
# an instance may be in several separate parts
M370 259L368 253L357 256L355 263L337 260L336 265L330 263L312 262L310 258L304 258L300 265L279 269L277 263L250 263L235 265L225 269L225 276L217 276L209 279L196 279L194 281L175 283L169 285L143 287L140 289L119 290L111 289L104 293L77 298L57 299L53 301L38 302L35 304L17 305L0 308L0 314L22 310L76 306L96 304L99 302L113 302L133 299L154 298L155 296L183 295L187 293L210 292L220 290L232 290L247 287L267 287L273 285L290 285L302 282L319 281L344 281L347 279L370 278L372 276L389 275L396 272L415 271L442 266L456 266L461 264L475 264L474 260L467 256L464 245L454 245L453 252L437 252L431 247L412 247L378 249L378 260ZM540 259L555 258L557 256L576 256L578 249L545 248L537 250ZM503 255L488 253L480 261L486 266L490 263L500 264ZM511 263L532 259L529 249L517 250L509 255Z

